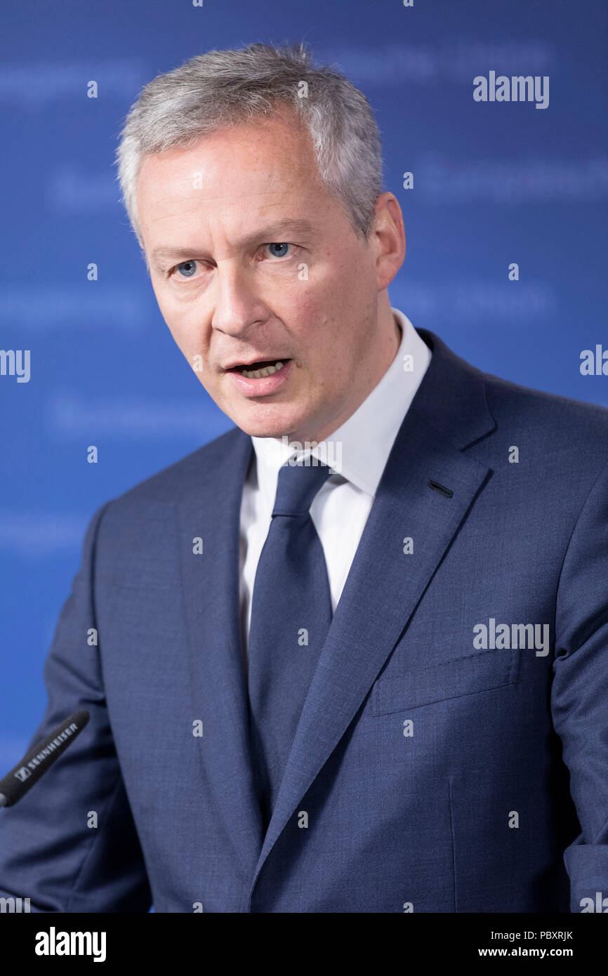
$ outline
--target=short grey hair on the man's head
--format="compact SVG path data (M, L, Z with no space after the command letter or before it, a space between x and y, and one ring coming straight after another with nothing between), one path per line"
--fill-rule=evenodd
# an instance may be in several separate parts
M314 66L304 44L250 44L209 51L157 75L129 111L116 165L140 245L136 182L143 158L196 142L224 125L269 115L280 103L297 112L325 188L343 205L355 232L367 238L383 191L382 146L370 103L338 71Z

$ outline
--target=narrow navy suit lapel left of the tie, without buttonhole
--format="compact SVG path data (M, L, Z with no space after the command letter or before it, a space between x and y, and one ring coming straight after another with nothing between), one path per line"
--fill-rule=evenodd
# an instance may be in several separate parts
M240 505L252 450L249 436L229 431L201 453L204 466L188 479L178 503L192 717L203 722L195 742L206 788L223 813L245 877L251 877L263 841L249 758L238 587ZM203 541L202 554L192 552L195 537Z

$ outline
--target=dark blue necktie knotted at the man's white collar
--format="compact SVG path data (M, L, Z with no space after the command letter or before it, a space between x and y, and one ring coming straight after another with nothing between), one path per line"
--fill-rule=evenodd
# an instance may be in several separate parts
M308 512L329 473L321 464L279 468L254 583L247 649L250 731L266 827L332 621L325 556Z

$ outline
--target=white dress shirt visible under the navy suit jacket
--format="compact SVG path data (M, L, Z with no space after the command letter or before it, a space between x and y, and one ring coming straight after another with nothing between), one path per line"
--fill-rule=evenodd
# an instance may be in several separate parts
M279 468L294 454L316 455L340 471L330 474L310 506L325 554L332 609L338 605L393 441L430 361L428 346L407 316L398 308L391 311L402 333L397 354L380 383L342 427L317 447L303 452L274 437L252 437L255 457L243 487L240 523L240 606L245 647L256 570L270 527Z

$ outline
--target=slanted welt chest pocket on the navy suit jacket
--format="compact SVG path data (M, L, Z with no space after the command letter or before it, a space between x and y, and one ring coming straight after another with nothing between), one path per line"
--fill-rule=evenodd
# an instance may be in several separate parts
M372 691L372 714L420 709L434 702L515 684L520 653L518 649L480 651L414 668L406 674L379 678Z

